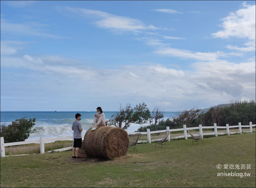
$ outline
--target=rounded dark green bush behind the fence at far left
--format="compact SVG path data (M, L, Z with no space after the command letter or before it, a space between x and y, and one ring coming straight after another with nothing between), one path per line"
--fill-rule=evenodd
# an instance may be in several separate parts
M0 136L4 137L5 143L25 141L30 133L35 131L35 129L31 129L36 124L35 122L36 118L26 119L24 117L16 119L8 126L1 125Z

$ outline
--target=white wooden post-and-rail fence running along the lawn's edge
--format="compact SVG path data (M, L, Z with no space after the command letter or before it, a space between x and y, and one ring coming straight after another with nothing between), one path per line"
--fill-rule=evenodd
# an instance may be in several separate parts
M250 131L243 131L243 132L250 132L252 133L252 127L255 127L256 125L252 125L252 122L250 122L250 125L241 125L241 123L238 123L238 125L234 125L234 126L229 126L228 124L226 124L225 126L217 126L217 124L215 123L214 126L205 126L203 127L202 125L199 125L199 127L189 127L187 128L186 125L183 125L183 128L180 129L169 129L169 127L166 127L166 130L157 130L157 131L150 131L150 129L147 129L147 132L140 132L143 135L147 135L147 140L139 140L138 143L151 143L154 141L154 139L151 139L151 134L156 134L156 133L161 133L161 132L165 132L165 131L170 131L170 135L167 138L168 141L172 139L177 139L177 138L185 138L188 139L188 137L190 137L190 135L187 134L187 130L191 130L191 129L199 129L199 133L200 135L215 135L218 136L222 135L222 134L242 134L242 127L247 127L250 128ZM239 128L239 131L230 131L231 128ZM209 132L204 132L203 133L203 129L214 129L214 131L209 131ZM217 129L225 129L225 131L220 131L218 132ZM133 135L136 134L138 132L128 132L127 129L125 129L125 131L127 131L128 135ZM174 131L184 131L184 134L172 134L172 132ZM23 144L29 144L29 143L40 143L40 153L45 153L45 143L46 142L53 142L53 141L57 141L57 140L74 140L73 139L74 134L72 136L69 137L61 137L61 138L48 138L45 139L44 137L40 137L40 140L30 140L30 141L24 141L24 142L12 142L12 143L4 143L4 137L0 138L1 141L1 157L7 157L5 155L5 147L7 146L17 146L17 145L23 145ZM84 135L83 135L84 137ZM83 138L82 137L82 138ZM52 151L66 151L66 150L70 150L72 149L71 147L67 147L67 148L61 148L61 149L57 149L57 150L52 150ZM47 151L47 152L52 152L52 151Z

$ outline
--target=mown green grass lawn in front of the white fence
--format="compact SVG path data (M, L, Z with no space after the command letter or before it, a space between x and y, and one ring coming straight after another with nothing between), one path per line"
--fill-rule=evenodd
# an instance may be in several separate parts
M255 138L253 132L204 138L198 145L192 139L162 148L141 143L115 160L72 160L72 151L1 157L1 187L255 187Z

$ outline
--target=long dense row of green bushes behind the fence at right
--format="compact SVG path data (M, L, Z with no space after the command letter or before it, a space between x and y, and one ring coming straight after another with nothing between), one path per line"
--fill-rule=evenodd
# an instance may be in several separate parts
M240 122L242 125L249 125L256 122L256 106L255 101L234 101L228 106L223 107L211 107L207 112L199 113L199 109L192 108L177 113L177 117L172 119L167 118L161 120L155 126L153 124L138 128L135 132L146 132L147 129L153 130L165 130L166 127L170 129L183 128L186 124L187 127L213 126L214 123L217 126L229 126L238 125Z

